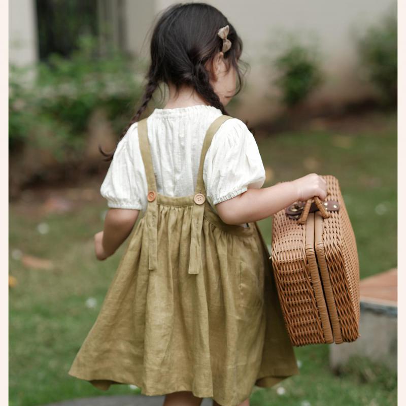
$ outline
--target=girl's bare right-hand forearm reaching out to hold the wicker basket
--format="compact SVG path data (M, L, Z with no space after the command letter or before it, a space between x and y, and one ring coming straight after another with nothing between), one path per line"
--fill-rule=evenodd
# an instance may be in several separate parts
M282 182L261 189L249 188L244 193L216 205L220 218L227 224L243 224L262 220L291 205L296 200L327 196L326 181L309 174L291 182Z

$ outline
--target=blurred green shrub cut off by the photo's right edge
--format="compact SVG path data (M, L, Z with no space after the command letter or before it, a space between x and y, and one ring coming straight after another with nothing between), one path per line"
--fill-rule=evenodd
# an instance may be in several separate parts
M397 101L397 18L391 11L358 36L357 48L364 76L374 84L384 104Z

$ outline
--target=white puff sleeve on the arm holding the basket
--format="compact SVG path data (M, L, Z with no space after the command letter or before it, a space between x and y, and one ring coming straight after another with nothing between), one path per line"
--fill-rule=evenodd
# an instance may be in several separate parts
M264 184L258 146L243 121L232 118L221 124L207 151L203 176L212 205Z

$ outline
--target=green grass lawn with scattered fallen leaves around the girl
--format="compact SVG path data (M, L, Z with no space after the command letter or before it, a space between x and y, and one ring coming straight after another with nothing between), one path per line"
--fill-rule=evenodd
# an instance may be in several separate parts
M396 117L383 116L379 122L357 131L279 133L258 141L264 165L273 174L264 186L310 172L339 179L356 236L361 278L397 265ZM98 180L92 183L96 193L99 185ZM106 202L99 197L82 201L65 214L44 215L36 206L34 199L10 207L10 275L18 282L9 289L10 405L138 393L128 385L103 392L67 375L124 249L104 262L94 257L93 234L103 227ZM47 233L38 232L40 223L49 226ZM270 244L272 219L259 225ZM49 259L54 267L26 266L16 250ZM89 298L95 299L95 307L86 306ZM273 388L254 388L252 405L396 404L396 375L381 365L354 360L336 376L328 367L328 345L295 348L295 353L300 375ZM277 392L279 386L284 393Z

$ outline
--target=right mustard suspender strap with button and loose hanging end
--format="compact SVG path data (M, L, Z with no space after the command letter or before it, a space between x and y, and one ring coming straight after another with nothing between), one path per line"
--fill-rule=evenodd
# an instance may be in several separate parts
M197 182L196 182L196 189L194 191L195 196L196 194L202 194L206 198L206 188L205 182L203 180L203 166L205 163L206 152L210 147L212 142L213 136L220 127L220 125L232 118L225 114L217 117L209 126L205 140L203 141L203 146L201 148L200 153L200 163L199 163L199 170L197 173ZM203 203L206 202L206 199ZM205 213L205 204L198 204L198 200L196 202L196 198L194 200L193 209L192 209L192 229L191 229L191 241L190 241L190 249L189 249L189 267L188 273L189 274L198 274L201 268L201 227L203 225L203 215Z

